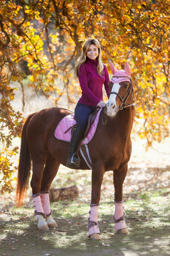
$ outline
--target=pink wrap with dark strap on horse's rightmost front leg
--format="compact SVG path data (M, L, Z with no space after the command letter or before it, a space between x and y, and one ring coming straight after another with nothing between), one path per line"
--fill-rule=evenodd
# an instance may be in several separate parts
M115 211L114 211L114 221L115 221L115 230L125 229L127 228L125 222L125 214L124 214L124 206L123 203L116 203L115 202ZM119 221L120 219L120 221Z

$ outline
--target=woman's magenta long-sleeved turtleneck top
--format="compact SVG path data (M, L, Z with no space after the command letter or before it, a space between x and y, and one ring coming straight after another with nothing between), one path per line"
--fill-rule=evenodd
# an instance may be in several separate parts
M103 75L99 76L97 73L97 61L98 60L86 60L80 66L78 72L78 78L80 87L82 89L82 97L79 99L79 103L88 106L97 106L99 101L103 101L103 84L107 96L109 96L109 74L107 67L104 65Z

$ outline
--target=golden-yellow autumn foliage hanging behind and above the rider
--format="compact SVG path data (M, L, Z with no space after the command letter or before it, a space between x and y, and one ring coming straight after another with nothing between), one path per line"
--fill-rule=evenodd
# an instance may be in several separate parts
M120 68L129 61L135 87L135 120L142 123L139 136L147 137L148 146L153 140L160 142L168 137L168 10L168 0L1 1L0 165L5 181L16 168L10 158L17 152L17 148L6 148L20 135L23 122L22 114L11 107L14 82L18 81L24 92L27 79L28 86L51 98L55 106L63 96L68 106L74 104L73 95L80 93L73 76L74 63L88 37L99 39L104 63L111 59Z

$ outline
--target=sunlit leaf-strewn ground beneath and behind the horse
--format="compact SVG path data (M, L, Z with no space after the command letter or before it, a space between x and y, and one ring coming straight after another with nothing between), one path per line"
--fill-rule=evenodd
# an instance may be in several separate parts
M169 255L169 140L145 151L145 142L133 137L133 154L124 183L128 234L114 231L112 172L104 176L99 208L101 241L87 237L91 171L61 166L52 187L76 185L79 196L51 203L58 227L42 232L33 216L31 189L22 208L14 193L1 196L0 255Z

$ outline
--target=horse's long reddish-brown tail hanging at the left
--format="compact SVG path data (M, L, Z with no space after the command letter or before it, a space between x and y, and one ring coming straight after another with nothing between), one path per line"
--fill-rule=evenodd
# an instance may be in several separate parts
M22 130L22 140L21 140L21 146L20 146L18 178L17 178L17 187L16 187L16 198L15 198L15 203L18 206L23 204L23 200L25 199L28 183L29 183L31 158L29 155L26 131L27 131L28 122L33 117L34 114L35 113L28 116Z

